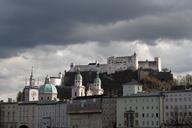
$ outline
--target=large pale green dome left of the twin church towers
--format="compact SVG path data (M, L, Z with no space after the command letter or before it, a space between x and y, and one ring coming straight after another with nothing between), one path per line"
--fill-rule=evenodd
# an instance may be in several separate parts
M53 84L44 84L39 88L39 93L54 93L57 94L57 88Z

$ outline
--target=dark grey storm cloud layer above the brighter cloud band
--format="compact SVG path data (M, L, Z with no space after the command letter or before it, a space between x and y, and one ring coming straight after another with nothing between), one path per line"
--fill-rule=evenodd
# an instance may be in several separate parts
M1 0L0 57L43 44L191 39L191 7L190 0Z

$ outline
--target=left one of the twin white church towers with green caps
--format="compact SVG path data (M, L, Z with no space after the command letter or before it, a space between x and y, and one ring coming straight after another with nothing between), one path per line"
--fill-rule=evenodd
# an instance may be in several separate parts
M85 86L82 85L83 79L80 70L77 69L74 86L72 86L72 98L85 96Z

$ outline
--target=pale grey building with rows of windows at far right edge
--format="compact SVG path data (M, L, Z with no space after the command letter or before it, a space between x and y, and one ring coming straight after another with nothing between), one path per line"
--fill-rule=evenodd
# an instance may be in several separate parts
M192 124L192 90L165 92L165 125Z

